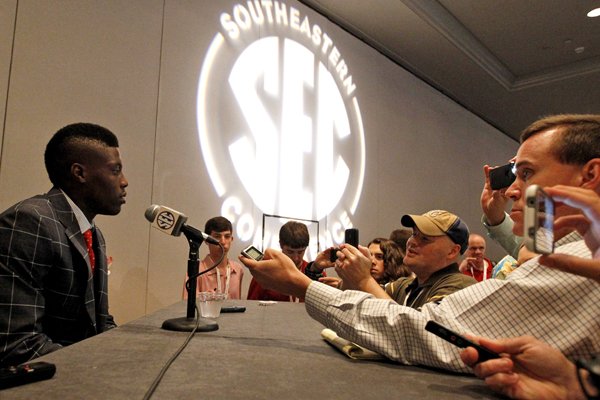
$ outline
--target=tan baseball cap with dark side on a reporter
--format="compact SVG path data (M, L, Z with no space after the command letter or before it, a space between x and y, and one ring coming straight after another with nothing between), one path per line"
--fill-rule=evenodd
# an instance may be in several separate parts
M456 215L445 210L431 210L423 215L403 215L402 225L417 227L427 236L447 235L454 243L460 245L460 254L469 247L469 228Z

